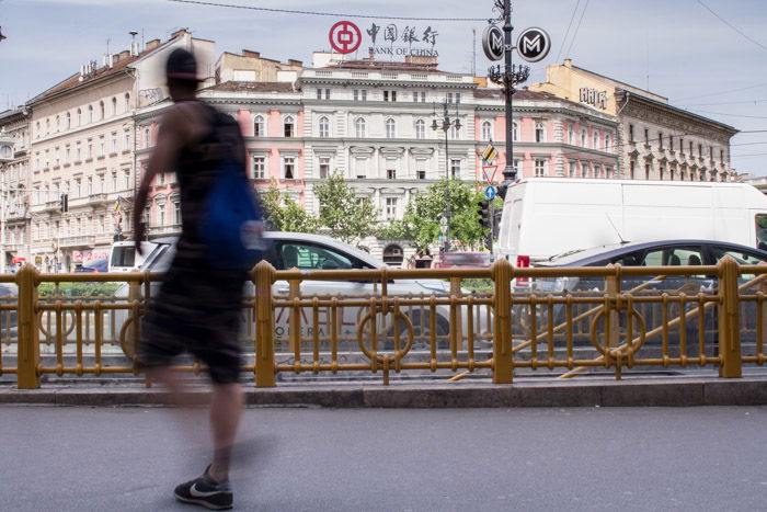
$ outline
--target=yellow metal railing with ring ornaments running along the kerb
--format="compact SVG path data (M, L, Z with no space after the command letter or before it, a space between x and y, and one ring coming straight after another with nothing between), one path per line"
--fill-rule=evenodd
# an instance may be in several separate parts
M18 287L18 297L0 301L0 375L28 389L44 375L138 374L139 320L160 277L32 266L0 277ZM443 280L444 291L398 287L425 277ZM517 277L533 286L514 289ZM468 278L491 286L471 293L461 287ZM560 286L564 278L581 286ZM42 283L85 281L122 281L126 291L38 295ZM318 282L324 292L312 293ZM369 293L328 294L333 282L365 283ZM627 368L694 365L740 377L744 364L765 363L766 283L767 265L732 258L716 266L515 269L501 260L490 269L314 272L261 262L242 305L243 371L257 387L301 374L378 374L388 383L392 374L456 380L489 372L510 384L519 372L600 369L621 378ZM195 361L179 369L203 368Z

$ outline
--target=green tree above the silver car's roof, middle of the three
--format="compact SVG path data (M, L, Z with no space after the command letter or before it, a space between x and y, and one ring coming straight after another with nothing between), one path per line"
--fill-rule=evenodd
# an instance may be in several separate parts
M333 172L323 183L314 185L320 203L320 226L331 237L346 243L376 234L378 212L369 197L363 197L346 184L340 172Z

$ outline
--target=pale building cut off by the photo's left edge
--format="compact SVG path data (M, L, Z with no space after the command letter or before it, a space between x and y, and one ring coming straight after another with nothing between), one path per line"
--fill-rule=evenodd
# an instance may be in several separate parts
M30 110L22 106L0 113L0 273L25 261L28 167Z

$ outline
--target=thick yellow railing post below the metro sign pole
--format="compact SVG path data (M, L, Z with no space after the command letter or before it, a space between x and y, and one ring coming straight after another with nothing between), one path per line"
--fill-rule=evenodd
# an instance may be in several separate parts
M493 294L493 383L512 384L512 264L499 259L490 269L495 286Z

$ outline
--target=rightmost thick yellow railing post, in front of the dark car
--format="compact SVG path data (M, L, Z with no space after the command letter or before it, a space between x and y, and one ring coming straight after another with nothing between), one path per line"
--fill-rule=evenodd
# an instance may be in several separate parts
M741 353L741 322L739 318L737 275L740 268L732 257L724 257L719 264L719 354L722 364L719 376L743 376Z

